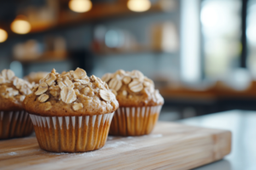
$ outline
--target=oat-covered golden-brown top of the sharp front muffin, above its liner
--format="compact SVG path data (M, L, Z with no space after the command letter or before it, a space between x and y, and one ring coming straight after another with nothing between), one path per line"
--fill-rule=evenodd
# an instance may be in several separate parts
M91 116L112 113L119 107L106 82L87 77L83 69L55 72L40 80L23 102L26 111L39 116Z

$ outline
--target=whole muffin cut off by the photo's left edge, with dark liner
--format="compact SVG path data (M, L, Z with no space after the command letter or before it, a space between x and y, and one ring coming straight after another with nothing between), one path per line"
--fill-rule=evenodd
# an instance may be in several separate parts
M27 94L32 93L32 84L10 70L0 73L0 139L24 137L32 133L32 122L22 107Z

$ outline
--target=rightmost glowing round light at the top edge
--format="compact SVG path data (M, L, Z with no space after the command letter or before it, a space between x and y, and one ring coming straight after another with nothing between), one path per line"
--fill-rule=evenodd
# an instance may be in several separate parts
M151 3L148 0L129 0L127 7L134 12L144 12L151 7Z

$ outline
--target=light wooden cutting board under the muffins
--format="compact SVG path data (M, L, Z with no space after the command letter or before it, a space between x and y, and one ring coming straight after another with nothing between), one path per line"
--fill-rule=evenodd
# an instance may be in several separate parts
M230 153L226 130L158 122L141 137L108 137L100 150L51 153L41 150L35 136L0 140L1 169L191 169Z

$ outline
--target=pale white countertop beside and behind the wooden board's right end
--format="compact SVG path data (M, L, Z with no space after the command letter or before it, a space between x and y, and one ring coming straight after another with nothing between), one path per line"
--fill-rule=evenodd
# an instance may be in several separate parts
M255 170L256 111L224 111L178 121L187 125L228 129L232 132L232 150L223 160L196 170Z

